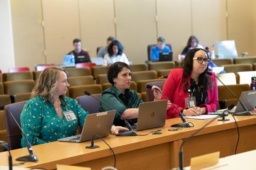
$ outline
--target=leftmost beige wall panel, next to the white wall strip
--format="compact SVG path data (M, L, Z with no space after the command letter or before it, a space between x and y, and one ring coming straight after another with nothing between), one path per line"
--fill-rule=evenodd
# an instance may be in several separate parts
M41 0L11 0L15 67L45 64Z

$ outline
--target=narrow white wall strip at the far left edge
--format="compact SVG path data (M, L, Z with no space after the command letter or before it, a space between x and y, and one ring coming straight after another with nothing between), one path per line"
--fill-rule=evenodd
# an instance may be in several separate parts
M9 0L0 0L0 16L0 69L8 72L8 68L15 67Z

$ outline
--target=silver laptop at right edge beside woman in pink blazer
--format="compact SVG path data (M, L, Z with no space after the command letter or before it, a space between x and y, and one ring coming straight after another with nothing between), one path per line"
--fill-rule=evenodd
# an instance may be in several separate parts
M256 106L256 91L246 91L242 92L240 96L240 100L244 103L245 107L249 111L254 110ZM220 112L223 112L226 109L218 110ZM237 106L230 110L230 113L238 113L245 111L241 105L241 103L238 101Z

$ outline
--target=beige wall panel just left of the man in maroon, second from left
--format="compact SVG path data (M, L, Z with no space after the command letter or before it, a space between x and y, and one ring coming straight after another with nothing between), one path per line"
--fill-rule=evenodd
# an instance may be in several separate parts
M78 1L43 0L42 4L46 62L62 64L63 56L73 50L73 39L81 38Z

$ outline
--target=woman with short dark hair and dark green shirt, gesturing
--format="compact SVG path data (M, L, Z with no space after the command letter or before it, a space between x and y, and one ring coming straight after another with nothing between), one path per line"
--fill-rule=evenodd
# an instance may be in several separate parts
M111 87L102 92L101 100L109 105L112 109L117 110L129 124L137 122L139 113L139 103L143 103L136 91L130 90L132 74L128 64L116 62L108 66L107 79L112 84ZM157 86L153 86L154 101L160 100L161 90ZM169 105L168 105L169 107ZM110 109L100 103L99 110L109 111ZM115 126L125 126L120 115L116 114L114 123Z

